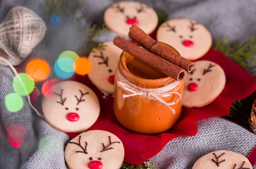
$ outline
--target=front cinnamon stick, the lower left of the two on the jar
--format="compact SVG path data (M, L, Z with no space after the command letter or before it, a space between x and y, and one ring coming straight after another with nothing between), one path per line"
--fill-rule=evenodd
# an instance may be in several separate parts
M177 81L181 81L184 79L185 70L179 68L178 66L168 62L165 59L162 59L155 54L137 46L128 40L123 39L122 37L116 36L113 39L113 44L117 47L121 48L123 51L128 54L134 56L136 59L141 60L142 62L148 64L152 68L160 71L166 76L171 77Z

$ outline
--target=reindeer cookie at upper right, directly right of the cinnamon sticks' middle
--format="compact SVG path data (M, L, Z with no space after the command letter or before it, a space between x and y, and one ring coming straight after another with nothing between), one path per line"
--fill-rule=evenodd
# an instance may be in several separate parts
M186 18L167 20L157 30L157 41L175 48L189 60L204 56L212 45L212 35L199 23Z

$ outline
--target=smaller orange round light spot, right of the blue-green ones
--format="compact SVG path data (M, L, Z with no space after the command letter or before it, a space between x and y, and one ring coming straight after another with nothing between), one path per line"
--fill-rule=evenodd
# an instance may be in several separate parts
M81 57L77 59L74 63L74 70L79 75L86 75L90 72L92 65L89 59Z

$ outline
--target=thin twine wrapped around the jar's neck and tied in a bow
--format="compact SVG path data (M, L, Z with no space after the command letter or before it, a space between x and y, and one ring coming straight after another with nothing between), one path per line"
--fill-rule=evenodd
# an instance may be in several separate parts
M181 95L178 92L170 92L170 91L173 90L177 85L179 85L180 82L175 81L170 85L167 85L166 87L161 87L157 89L147 89L147 88L138 87L137 85L134 85L133 83L126 80L120 74L118 69L116 71L117 71L116 75L118 79L118 81L116 82L116 85L122 88L123 90L130 92L130 94L124 94L123 98L128 98L132 96L146 97L150 100L158 101L159 103L166 105L172 111L173 114L176 113L175 110L170 106L177 104L177 102L180 101L181 99ZM161 96L163 95L172 95L172 94L177 94L179 98L176 99L175 101L168 102L168 103L163 99L161 99Z

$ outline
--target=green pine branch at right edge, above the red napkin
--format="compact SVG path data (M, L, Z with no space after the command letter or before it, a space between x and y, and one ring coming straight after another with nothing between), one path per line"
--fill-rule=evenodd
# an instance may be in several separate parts
M220 38L213 48L229 56L249 73L256 75L256 39L254 36L243 44Z

